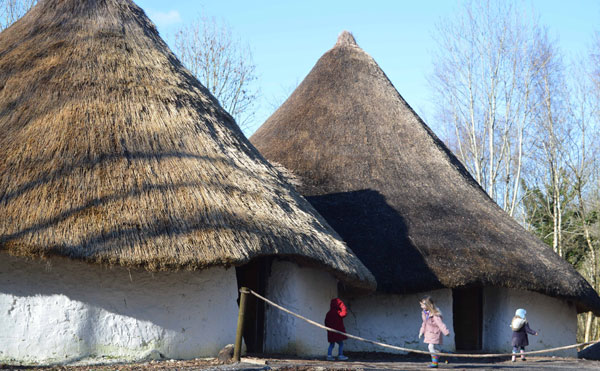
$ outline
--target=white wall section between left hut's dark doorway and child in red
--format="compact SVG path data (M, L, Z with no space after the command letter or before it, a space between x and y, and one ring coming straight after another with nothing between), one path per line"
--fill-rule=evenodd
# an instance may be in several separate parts
M275 303L323 324L329 303L336 296L337 280L331 274L287 261L273 262L267 298ZM266 353L323 356L327 346L325 330L266 305Z

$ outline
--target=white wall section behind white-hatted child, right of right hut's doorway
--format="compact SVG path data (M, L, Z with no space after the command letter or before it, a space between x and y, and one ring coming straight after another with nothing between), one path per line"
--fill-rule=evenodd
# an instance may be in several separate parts
M530 291L485 288L483 291L483 348L488 352L512 351L510 321L518 308L527 311L527 321L539 336L528 335L525 351L576 343L577 310L565 300ZM544 356L576 357L577 350L546 353Z

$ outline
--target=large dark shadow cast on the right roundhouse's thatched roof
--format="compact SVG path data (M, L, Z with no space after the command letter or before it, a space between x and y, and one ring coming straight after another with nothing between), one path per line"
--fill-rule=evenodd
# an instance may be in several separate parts
M404 218L374 190L308 196L375 276L377 290L404 294L442 288L412 244Z

